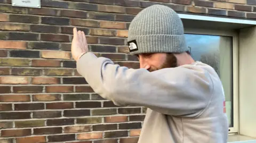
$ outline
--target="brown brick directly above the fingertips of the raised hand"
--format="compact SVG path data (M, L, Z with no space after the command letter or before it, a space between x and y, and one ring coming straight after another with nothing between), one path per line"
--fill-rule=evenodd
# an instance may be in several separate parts
M71 19L72 26L99 27L99 22L94 20Z

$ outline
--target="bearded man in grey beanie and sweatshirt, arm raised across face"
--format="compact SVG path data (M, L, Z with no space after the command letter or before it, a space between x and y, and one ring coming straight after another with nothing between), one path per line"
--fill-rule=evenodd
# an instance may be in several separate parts
M211 66L193 60L183 34L169 7L142 10L128 37L140 69L128 69L89 52L84 32L74 28L71 52L93 90L118 106L148 108L139 143L227 142L221 81Z

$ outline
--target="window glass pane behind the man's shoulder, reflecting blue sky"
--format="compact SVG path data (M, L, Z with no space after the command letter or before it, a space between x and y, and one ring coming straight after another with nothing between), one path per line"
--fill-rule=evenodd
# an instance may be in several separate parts
M209 64L218 73L225 92L229 127L233 127L233 38L186 34L186 40L194 60Z

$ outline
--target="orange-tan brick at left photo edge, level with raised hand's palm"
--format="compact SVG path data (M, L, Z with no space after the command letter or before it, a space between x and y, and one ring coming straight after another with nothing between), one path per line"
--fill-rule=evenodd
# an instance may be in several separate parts
M26 49L27 43L25 41L9 41L0 40L0 48L5 49Z

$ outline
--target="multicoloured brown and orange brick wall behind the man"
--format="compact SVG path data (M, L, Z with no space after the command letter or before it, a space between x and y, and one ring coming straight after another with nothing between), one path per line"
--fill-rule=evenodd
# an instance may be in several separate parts
M137 142L146 108L95 94L75 69L70 42L77 27L90 51L137 69L127 53L129 22L158 3L178 13L256 18L256 0L42 0L41 9L0 0L0 142Z

